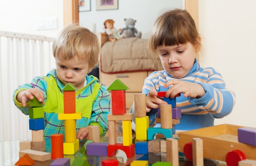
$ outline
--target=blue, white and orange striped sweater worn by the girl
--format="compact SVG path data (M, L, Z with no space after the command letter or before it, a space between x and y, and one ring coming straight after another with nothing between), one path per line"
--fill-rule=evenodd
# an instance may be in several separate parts
M157 92L167 91L163 85L172 79L176 78L173 78L165 70L155 71L145 79L142 93L148 95L151 89L155 89ZM225 89L222 76L213 68L204 69L195 59L191 71L185 77L177 80L200 84L206 93L199 99L184 97L183 94L176 98L176 107L182 108L182 117L180 124L175 126L176 130L185 131L213 126L214 118L222 118L231 113L235 104L235 94ZM135 112L134 105L131 112ZM152 109L147 115L149 116L149 126L153 126L155 117L157 117L157 109Z

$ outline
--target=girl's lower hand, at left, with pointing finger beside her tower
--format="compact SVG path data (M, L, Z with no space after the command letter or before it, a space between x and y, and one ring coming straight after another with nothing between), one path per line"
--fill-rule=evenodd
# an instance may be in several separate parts
M150 112L152 108L158 108L159 104L168 104L157 97L157 91L150 90L146 96L146 112Z

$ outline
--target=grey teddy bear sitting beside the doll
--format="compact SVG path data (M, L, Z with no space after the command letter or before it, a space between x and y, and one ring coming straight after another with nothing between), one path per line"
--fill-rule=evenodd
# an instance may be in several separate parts
M126 27L120 31L120 35L124 35L124 38L130 37L137 37L141 38L141 32L138 32L137 29L134 27L136 20L132 18L125 18L124 19Z

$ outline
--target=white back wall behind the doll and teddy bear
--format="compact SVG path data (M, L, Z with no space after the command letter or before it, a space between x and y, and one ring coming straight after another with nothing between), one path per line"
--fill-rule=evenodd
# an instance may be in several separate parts
M104 32L104 21L113 19L116 29L126 27L124 18L136 20L135 28L141 38L148 38L156 18L167 10L183 8L183 0L119 0L117 10L96 11L96 1L91 0L91 11L79 13L80 25L94 33Z

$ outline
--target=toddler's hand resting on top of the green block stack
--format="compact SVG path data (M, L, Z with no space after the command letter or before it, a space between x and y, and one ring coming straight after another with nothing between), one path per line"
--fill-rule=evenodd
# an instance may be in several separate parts
M26 103L29 102L29 99L33 99L34 97L36 97L39 102L45 104L43 92L36 88L30 88L20 91L16 96L16 99L18 100L18 102L22 103L23 107L25 107Z

